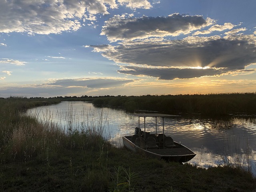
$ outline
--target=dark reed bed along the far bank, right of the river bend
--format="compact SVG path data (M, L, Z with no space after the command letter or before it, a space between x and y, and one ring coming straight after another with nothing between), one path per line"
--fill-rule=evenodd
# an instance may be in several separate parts
M123 108L129 112L150 110L162 113L199 113L202 115L228 115L255 113L256 93L110 96L95 98L96 106Z

